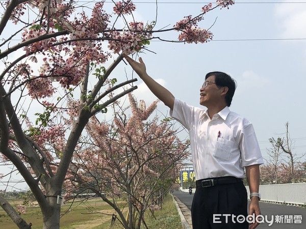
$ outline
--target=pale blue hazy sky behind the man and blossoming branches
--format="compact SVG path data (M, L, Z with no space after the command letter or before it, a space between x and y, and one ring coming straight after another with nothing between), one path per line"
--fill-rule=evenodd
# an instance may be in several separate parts
M184 16L201 13L205 2L165 0L158 1L156 8L154 0L134 1L134 16L138 21L152 21L157 13L155 30L171 28ZM111 4L107 1L105 6ZM238 85L230 109L253 124L263 157L268 159L269 138L285 136L286 122L293 152L297 156L305 153L306 0L235 1L230 9L209 12L200 26L211 27L212 41L152 41L149 51L139 54L148 74L176 98L194 106L200 106L199 89L206 73L230 74ZM177 40L178 35L159 34L169 40ZM131 75L131 67L121 62L110 78L120 82ZM138 78L134 92L137 99L145 100L147 105L156 100L135 73L133 77ZM158 109L165 115L169 113L162 102Z

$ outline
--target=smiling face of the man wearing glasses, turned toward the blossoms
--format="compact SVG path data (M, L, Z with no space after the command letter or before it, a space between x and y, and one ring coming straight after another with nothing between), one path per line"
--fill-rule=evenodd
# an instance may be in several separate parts
M221 88L218 89L214 75L208 77L200 89L200 105L209 107L218 103L221 99Z

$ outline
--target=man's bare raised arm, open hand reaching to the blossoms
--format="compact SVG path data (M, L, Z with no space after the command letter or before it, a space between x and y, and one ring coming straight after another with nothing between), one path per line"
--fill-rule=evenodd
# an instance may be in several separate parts
M164 102L166 106L168 106L170 109L173 109L174 96L171 94L171 92L165 89L161 84L156 82L146 73L145 64L143 63L142 59L139 58L139 62L136 62L127 55L124 55L124 58L148 86L150 91L162 102Z

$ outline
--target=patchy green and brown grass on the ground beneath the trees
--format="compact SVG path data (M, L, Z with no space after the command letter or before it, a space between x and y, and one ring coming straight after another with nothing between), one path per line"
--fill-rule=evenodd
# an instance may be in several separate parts
M13 201L11 201L13 202ZM13 202L17 204L18 202ZM125 203L120 203L123 207ZM14 206L14 205L13 205ZM62 206L62 214L69 209L70 205L66 203ZM126 215L126 210L123 210L123 214ZM111 228L112 214L117 213L100 198L90 199L84 203L75 202L70 208L70 211L64 214L61 218L61 229L109 229ZM154 216L148 211L145 214L145 221L150 229L181 229L181 219L177 213L176 207L172 201L172 196L167 195L164 200L164 205L161 210L155 211ZM22 215L23 219L27 223L32 223L33 229L42 228L42 216L39 207L27 208L27 212ZM0 227L6 229L15 229L17 226L7 216L7 214L0 209ZM116 220L116 224L113 229L123 228L123 226ZM145 228L142 226L141 228Z

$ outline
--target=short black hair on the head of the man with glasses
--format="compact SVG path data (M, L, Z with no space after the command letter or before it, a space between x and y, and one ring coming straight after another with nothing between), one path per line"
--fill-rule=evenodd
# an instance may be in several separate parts
M205 76L205 80L210 76L215 76L215 83L217 87L227 87L228 91L225 95L225 102L227 106L231 106L232 99L237 87L235 79L224 72L209 72Z

